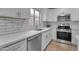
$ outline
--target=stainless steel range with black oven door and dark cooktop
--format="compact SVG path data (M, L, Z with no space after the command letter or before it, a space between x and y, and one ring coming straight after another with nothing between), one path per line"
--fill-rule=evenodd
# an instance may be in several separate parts
M72 33L70 26L58 26L57 27L57 39L62 41L69 41L71 42Z

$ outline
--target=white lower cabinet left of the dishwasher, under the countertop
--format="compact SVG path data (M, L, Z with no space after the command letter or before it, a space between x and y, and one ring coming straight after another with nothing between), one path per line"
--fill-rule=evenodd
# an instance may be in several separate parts
M11 44L7 44L0 48L0 51L26 51L27 50L27 40L20 40Z

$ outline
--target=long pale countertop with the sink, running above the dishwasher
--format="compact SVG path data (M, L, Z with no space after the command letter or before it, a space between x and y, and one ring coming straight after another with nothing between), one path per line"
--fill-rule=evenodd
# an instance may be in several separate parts
M8 34L4 36L0 36L0 46L6 45L8 43L13 43L19 40L27 39L28 37L34 36L39 33L43 33L44 31L49 30L50 28L44 28L41 31L30 30L28 32L20 32L14 34Z

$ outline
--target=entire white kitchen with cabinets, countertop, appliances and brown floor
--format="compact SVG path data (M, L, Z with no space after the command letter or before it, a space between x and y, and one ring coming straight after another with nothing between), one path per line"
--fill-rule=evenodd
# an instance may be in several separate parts
M0 8L0 51L78 51L79 8Z

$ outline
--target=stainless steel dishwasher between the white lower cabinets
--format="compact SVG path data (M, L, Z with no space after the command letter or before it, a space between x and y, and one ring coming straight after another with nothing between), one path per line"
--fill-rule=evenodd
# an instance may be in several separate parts
M29 37L27 42L28 51L41 51L41 34Z

